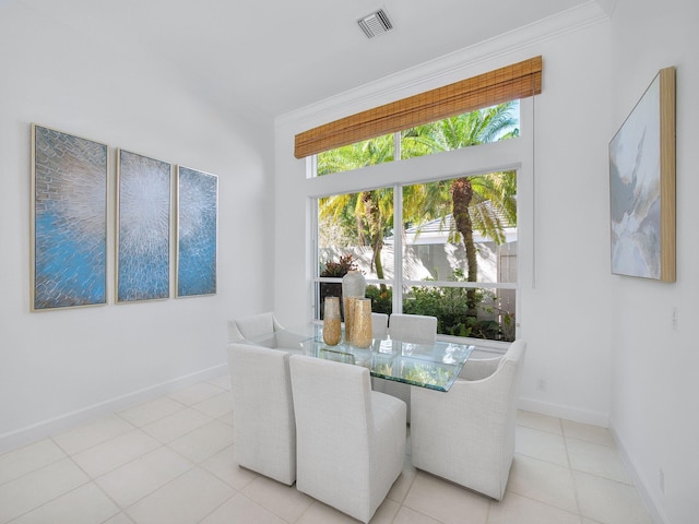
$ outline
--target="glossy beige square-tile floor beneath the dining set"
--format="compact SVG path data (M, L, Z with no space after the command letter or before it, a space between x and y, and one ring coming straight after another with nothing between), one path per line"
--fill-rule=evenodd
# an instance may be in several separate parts
M228 377L0 454L0 524L357 522L233 462ZM410 446L408 446L410 449ZM411 466L375 524L650 524L607 430L520 412L505 499Z

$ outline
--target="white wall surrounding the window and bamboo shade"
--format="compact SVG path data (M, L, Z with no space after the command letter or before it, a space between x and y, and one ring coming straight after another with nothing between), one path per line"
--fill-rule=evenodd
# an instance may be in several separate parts
M535 151L511 144L485 153L446 154L447 169L462 172L495 162L522 160L520 172L519 335L529 342L521 405L540 413L606 426L609 413L608 19L594 2L545 23L465 49L402 75L322 100L276 120L275 310L285 323L310 318L306 198L419 180L412 167L381 165L348 177L305 179L305 162L293 156L294 134L345 115L457 80L543 56L543 93L534 114ZM523 104L523 108L530 103ZM523 126L532 126L524 115ZM531 128L526 130L530 132ZM524 132L522 134L525 134ZM508 141L512 142L512 141ZM493 144L494 146L496 144ZM488 146L490 147L490 146ZM473 148L479 150L479 148ZM495 153L497 158L498 153ZM510 155L514 156L510 156ZM534 169L532 171L531 159ZM418 165L418 164L416 164ZM477 172L477 171L476 171ZM523 178L522 178L523 177ZM531 181L533 177L533 182ZM525 183L522 183L522 182ZM532 209L533 206L533 209ZM533 253L533 254L532 254ZM566 263L561 263L566 261ZM305 278L306 277L306 278ZM540 391L540 380L546 391Z

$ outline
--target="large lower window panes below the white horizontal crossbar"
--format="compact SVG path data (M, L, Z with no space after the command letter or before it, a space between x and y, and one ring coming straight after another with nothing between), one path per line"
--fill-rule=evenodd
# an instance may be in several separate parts
M507 171L319 199L317 318L358 270L375 312L434 315L445 335L514 340L516 188Z

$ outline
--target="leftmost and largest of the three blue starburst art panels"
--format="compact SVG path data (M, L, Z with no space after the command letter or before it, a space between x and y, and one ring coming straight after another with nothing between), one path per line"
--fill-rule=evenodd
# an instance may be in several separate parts
M107 302L107 154L32 124L32 311Z

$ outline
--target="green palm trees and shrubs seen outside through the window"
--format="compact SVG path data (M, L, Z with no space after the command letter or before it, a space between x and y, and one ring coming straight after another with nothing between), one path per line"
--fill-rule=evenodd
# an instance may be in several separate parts
M517 136L518 119L511 114L514 104L500 104L405 130L401 133L401 158ZM390 162L393 157L391 134L319 154L317 169L318 175L322 176ZM478 261L474 233L478 231L496 243L501 243L505 241L505 228L517 225L516 172L491 172L403 188L403 227L417 226L419 230L420 225L435 218L441 218L446 223L449 215L453 218L450 223L454 225L450 240L454 243L463 242L465 249L465 281L477 282ZM369 247L371 271L377 278L384 278L381 263L383 240L394 234L392 188L321 199L319 219L321 225L332 224L337 229L336 238L342 238L345 246ZM475 288L452 289L453 293L449 288L424 288L414 290L414 294L415 298L420 297L420 301L425 303L429 300L448 302L452 295L465 297L465 300L459 300L459 312L454 312L462 319L462 326L454 327L459 332L454 334L471 333L474 327L471 323L476 322L478 302L483 297ZM430 295L433 291L437 295ZM390 305L390 289L386 285L377 287L376 294L377 297L370 297L376 298L375 311L378 311L377 301L383 303L382 309L387 302ZM411 306L405 305L405 308L410 309ZM425 312L425 307L420 309ZM446 313L442 308L440 314Z

